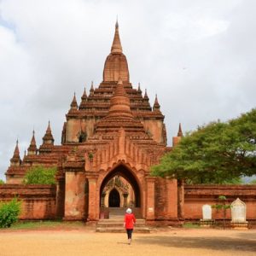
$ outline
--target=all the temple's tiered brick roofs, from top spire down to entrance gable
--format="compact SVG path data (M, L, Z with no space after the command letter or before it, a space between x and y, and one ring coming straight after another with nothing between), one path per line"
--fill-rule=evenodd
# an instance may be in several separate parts
M65 165L62 166L84 165L84 155L86 156L91 150L96 154L94 159L96 169L96 166L104 161L110 162L114 152L117 151L119 154L125 152L130 160L140 161L147 166L155 163L164 153L165 143L155 142L152 136L145 131L146 128L142 122L143 119L163 121L164 116L160 112L157 97L152 110L147 90L143 96L140 84L137 89L132 88L128 64L119 39L118 23L115 26L111 53L105 61L102 83L97 88L94 88L91 83L89 96L84 88L79 106L74 95L67 113L67 121L87 117L95 117L96 124L93 127L94 133L83 143L65 143L64 140L62 145L55 146L49 123L43 143L38 149L33 131L28 154L25 154L22 163L18 143L16 144L7 175L22 177L27 169L34 165L61 166L64 162ZM165 125L163 127L165 128ZM67 126L64 125L62 135L65 135L66 131Z

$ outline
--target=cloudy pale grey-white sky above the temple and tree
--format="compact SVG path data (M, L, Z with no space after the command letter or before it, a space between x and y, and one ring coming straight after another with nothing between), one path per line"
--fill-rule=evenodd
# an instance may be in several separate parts
M102 82L119 34L131 83L157 94L168 145L183 131L256 106L254 0L0 0L0 178L19 139L61 143L73 93Z

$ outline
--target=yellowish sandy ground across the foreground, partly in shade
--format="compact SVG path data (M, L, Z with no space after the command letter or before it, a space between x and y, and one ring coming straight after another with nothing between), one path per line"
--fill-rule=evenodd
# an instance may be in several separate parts
M170 229L135 233L131 246L125 234L102 234L88 229L2 231L0 255L255 256L256 230Z

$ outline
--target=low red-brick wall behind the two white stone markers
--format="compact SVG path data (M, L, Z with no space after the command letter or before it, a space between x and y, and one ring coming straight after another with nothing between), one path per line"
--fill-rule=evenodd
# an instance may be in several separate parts
M202 218L202 206L219 204L219 195L226 196L226 204L239 197L246 203L247 219L256 220L256 185L185 185L184 218ZM223 212L212 209L212 218L223 218ZM231 218L230 209L227 209L227 218Z

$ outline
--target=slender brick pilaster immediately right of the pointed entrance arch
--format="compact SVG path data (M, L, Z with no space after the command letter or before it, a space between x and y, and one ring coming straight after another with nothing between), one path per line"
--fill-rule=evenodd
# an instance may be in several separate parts
M146 219L154 220L154 182L155 177L146 177L147 196L146 196Z

